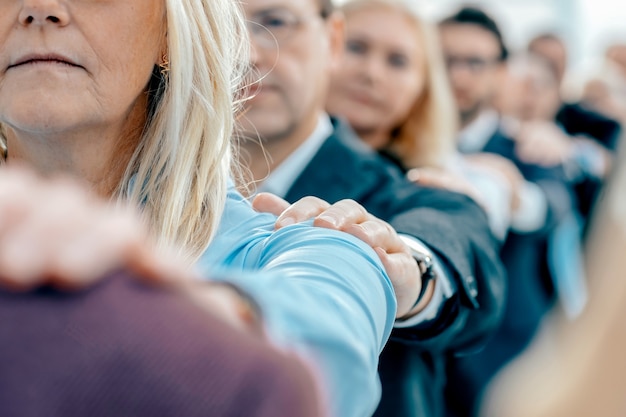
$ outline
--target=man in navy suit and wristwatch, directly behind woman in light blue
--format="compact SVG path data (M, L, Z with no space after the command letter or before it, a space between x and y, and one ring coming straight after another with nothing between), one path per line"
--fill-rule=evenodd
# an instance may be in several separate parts
M446 358L479 349L503 308L486 215L466 196L409 182L324 112L329 72L343 49L343 20L330 1L250 0L244 10L251 66L262 82L241 119L242 159L263 191L292 202L353 199L404 236L420 259L413 269L425 291L381 356L376 415L441 416Z

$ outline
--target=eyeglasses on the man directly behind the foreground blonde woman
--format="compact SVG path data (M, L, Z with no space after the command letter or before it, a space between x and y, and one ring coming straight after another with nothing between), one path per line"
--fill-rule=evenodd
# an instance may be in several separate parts
M313 19L324 18L323 14L308 18L298 17L287 9L264 10L247 21L250 37L266 49L275 49L287 45L300 28Z

